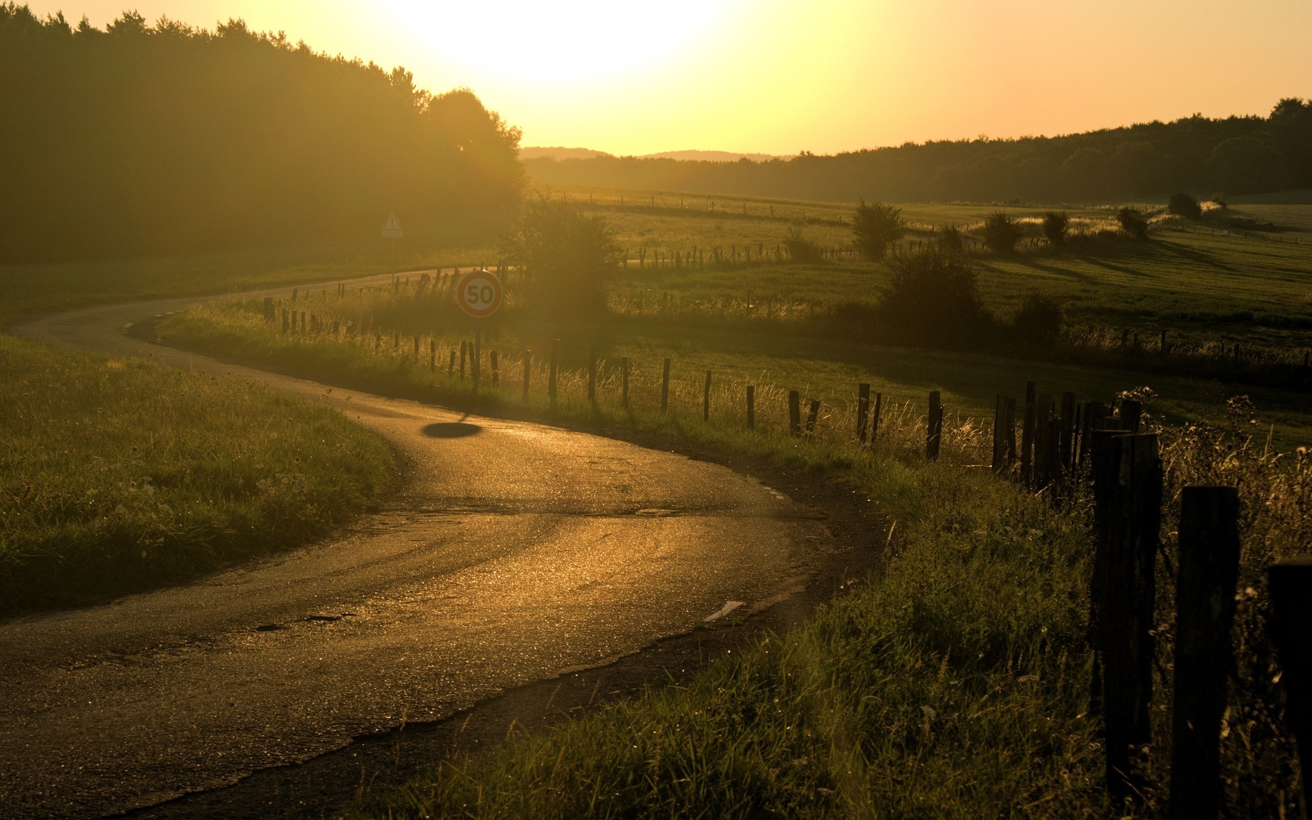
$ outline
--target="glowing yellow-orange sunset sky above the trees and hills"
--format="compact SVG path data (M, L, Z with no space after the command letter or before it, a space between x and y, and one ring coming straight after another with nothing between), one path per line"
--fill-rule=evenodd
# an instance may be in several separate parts
M525 146L791 155L1054 135L1312 97L1312 0L26 0L240 17L474 89Z

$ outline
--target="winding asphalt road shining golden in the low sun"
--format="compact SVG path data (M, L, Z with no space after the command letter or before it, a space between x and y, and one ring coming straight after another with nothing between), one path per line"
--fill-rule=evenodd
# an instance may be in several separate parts
M289 289L290 290L290 289ZM279 291L269 291L279 293ZM829 535L726 467L133 340L195 299L16 324L341 409L407 480L321 543L173 589L0 622L0 816L94 817L230 785L613 661L798 589Z

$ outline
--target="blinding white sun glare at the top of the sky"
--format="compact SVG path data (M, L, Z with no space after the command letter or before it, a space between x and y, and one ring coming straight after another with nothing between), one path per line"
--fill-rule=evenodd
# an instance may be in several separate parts
M740 0L500 0L387 5L400 30L478 73L518 83L606 80L676 59Z

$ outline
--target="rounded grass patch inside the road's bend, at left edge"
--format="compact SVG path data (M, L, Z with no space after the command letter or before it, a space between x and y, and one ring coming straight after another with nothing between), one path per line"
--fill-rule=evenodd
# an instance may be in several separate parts
M0 336L0 613L195 577L323 535L390 447L262 387Z

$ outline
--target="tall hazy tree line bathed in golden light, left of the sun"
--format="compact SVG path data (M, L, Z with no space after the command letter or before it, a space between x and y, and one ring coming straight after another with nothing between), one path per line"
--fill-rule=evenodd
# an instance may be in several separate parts
M105 29L0 4L0 261L493 236L520 131L468 89L240 20Z

